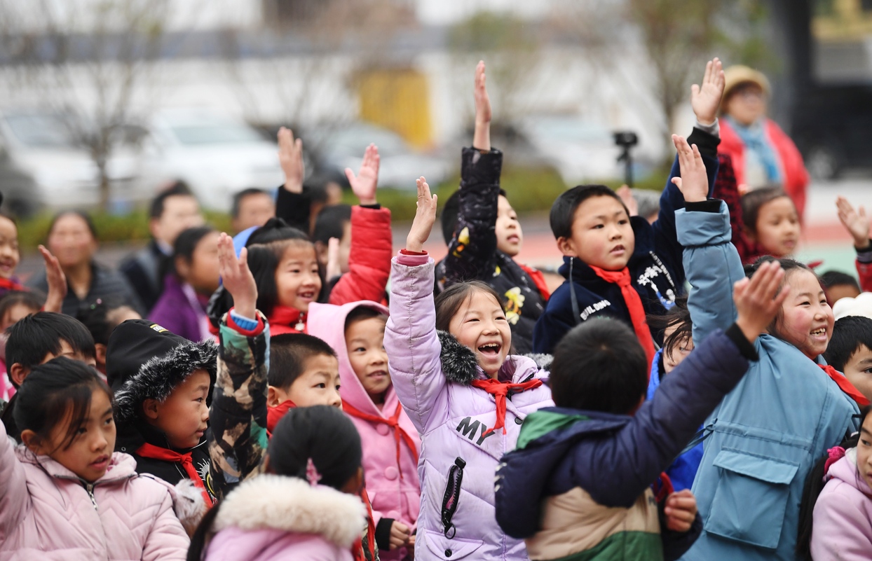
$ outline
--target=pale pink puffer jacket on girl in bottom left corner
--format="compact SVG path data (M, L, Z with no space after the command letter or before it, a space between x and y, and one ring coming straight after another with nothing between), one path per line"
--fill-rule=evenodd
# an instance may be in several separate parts
M185 559L189 540L165 483L116 452L85 488L48 456L13 448L0 423L0 560Z

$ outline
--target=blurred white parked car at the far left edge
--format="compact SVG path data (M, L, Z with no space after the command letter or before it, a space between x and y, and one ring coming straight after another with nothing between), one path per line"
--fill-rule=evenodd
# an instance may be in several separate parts
M86 125L69 115L51 112L0 113L0 191L3 207L17 214L40 208L57 210L95 206L99 202L99 171L88 149L72 130ZM118 143L106 168L112 203L136 202L137 158L130 146Z

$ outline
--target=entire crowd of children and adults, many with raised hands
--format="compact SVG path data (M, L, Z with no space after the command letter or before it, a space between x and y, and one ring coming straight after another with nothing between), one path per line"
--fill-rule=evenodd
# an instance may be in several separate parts
M177 183L119 272L58 214L25 287L0 215L0 558L872 558L869 220L837 200L859 282L792 258L764 79L706 65L657 204L555 200L559 286L515 260L483 62L439 263L425 178L394 253L378 148L340 205L287 129L235 238Z

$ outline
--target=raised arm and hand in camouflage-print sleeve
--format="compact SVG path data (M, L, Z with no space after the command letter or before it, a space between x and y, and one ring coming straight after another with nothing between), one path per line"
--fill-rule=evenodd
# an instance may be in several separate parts
M218 240L221 281L234 308L221 318L218 373L209 407L210 487L217 497L260 473L267 448L269 325L260 314L248 250L237 258L233 240Z

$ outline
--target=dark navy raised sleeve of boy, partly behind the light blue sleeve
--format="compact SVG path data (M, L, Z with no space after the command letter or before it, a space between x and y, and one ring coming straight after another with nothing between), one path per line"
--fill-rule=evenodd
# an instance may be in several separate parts
M705 173L708 176L709 195L714 189L714 181L718 176L718 145L720 139L698 128L694 128L691 136L687 137L688 144L695 144L705 163ZM669 179L666 180L666 188L660 195L660 213L654 222L654 247L657 255L663 259L668 267L676 274L676 286L682 287L685 283L685 272L682 264L681 243L675 230L675 212L685 207L685 196L672 183L672 178L681 177L681 168L678 166L678 155L672 163Z

